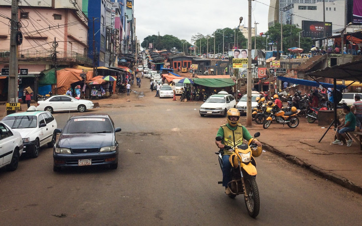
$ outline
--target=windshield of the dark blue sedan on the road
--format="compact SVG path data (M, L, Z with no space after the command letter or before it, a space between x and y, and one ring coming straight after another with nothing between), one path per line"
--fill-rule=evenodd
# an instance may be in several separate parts
M113 132L113 125L108 118L72 118L63 130L64 134Z

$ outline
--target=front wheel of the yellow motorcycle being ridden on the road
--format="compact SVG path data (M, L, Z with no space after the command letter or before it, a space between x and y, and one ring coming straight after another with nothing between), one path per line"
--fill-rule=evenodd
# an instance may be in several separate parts
M255 177L246 174L244 177L247 198L244 195L245 205L250 217L256 218L260 210L259 189Z

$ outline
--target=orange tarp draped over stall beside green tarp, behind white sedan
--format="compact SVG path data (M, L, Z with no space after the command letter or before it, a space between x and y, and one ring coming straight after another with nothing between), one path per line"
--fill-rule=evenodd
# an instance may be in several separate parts
M64 68L57 71L58 94L65 94L66 90L68 90L68 88L70 87L70 84L82 81L83 79L80 76L81 73L83 73L82 69L75 69L75 68ZM53 86L54 85L52 85L52 89L55 89L55 86L54 87Z

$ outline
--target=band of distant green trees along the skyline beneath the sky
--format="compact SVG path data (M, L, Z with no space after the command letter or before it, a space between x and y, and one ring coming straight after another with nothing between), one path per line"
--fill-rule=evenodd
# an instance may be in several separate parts
M283 51L286 54L289 54L288 49L291 47L299 47L299 32L301 28L298 28L295 25L283 25ZM280 24L276 23L266 32L267 37L256 37L256 48L257 49L266 49L267 42L274 42L278 44L278 49L280 49ZM238 45L234 44L234 40L237 37ZM223 42L224 38L224 42ZM242 35L241 31L237 32L236 28L218 28L211 34L201 34L197 33L191 37L192 44L196 46L196 54L206 54L206 53L222 53L222 46L224 46L224 51L227 52L230 49L239 47L239 49L247 48L247 39ZM215 40L215 45L214 45ZM312 41L310 38L303 38L302 33L300 37L301 43L300 47L304 50L304 53L308 53ZM255 49L254 46L255 37L252 37L251 44L252 49ZM153 48L157 50L167 49L171 50L176 47L179 51L190 52L188 49L190 47L190 42L186 40L180 40L178 37L173 35L149 35L147 36L141 46L146 48L147 43L153 43ZM148 46L147 46L148 47ZM268 50L270 46L268 45ZM276 46L274 45L274 48ZM201 51L200 51L201 50ZM194 53L194 51L192 51Z

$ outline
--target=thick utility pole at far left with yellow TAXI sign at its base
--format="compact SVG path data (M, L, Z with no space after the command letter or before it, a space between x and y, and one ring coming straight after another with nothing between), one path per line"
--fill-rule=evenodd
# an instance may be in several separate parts
M18 32L18 0L11 2L11 27L10 27L10 57L9 57L9 82L7 103L18 103L18 44L16 36ZM20 43L21 44L21 43ZM20 45L19 44L19 45ZM16 111L8 110L6 113L15 113Z

